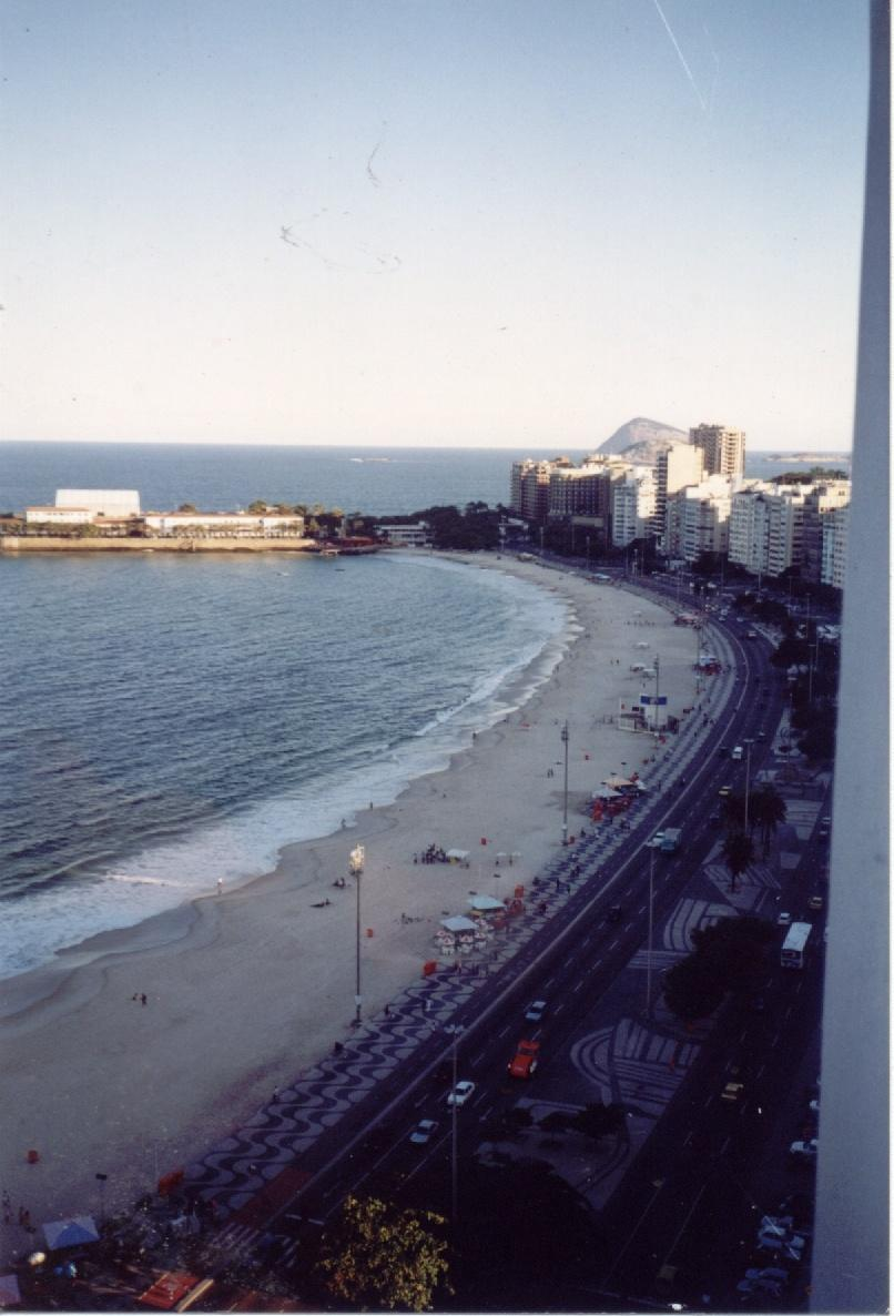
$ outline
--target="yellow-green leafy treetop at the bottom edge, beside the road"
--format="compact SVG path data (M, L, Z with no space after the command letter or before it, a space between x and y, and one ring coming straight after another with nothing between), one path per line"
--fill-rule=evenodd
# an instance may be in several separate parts
M334 1298L379 1311L431 1311L446 1282L447 1244L436 1232L443 1216L397 1211L377 1198L348 1196L325 1237L318 1262Z

